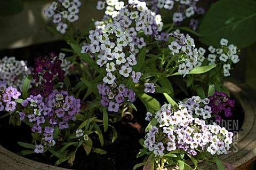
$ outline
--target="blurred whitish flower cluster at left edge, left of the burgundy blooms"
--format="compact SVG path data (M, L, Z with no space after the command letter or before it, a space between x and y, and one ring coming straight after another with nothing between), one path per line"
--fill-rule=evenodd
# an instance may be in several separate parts
M0 59L0 80L6 80L8 86L15 87L21 92L23 81L32 70L27 67L26 61L18 61L14 56Z

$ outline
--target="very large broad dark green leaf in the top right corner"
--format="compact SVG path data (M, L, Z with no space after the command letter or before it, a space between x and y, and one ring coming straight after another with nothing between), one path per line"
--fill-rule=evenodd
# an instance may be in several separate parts
M214 3L205 14L199 41L220 46L220 39L244 48L256 41L256 2L252 0L222 0Z

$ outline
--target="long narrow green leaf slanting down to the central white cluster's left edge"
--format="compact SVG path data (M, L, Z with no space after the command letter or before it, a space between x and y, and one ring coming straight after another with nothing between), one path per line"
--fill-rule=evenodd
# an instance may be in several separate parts
M102 73L102 70L99 69L97 63L91 58L89 54L81 53L81 48L75 44L71 44L71 47L78 54L78 56L81 57L82 60L88 63L89 66L91 66L95 71Z

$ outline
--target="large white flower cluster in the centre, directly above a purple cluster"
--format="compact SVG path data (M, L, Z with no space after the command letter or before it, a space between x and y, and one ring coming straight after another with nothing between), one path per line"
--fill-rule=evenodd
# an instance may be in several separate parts
M91 30L89 38L91 43L87 45L85 51L98 53L97 64L105 67L107 75L103 82L109 85L113 84L119 75L129 77L132 74L133 82L138 83L141 76L140 72L132 70L132 66L137 64L135 57L135 43L130 32L125 33L118 22L108 23L105 27L106 33L101 34L98 29ZM82 50L84 52L84 50Z

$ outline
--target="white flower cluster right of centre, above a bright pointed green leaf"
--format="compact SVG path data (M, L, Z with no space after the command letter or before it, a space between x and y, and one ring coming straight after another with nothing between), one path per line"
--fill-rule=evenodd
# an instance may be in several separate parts
M190 70L193 69L197 58L198 58L198 50L195 48L194 39L191 38L188 34L185 35L179 33L179 30L174 31L174 33L170 34L174 41L168 45L169 49L173 52L173 54L179 54L179 69L178 72L180 75L185 77Z

